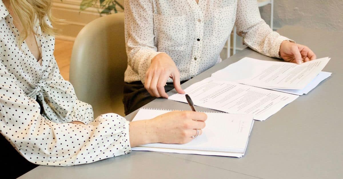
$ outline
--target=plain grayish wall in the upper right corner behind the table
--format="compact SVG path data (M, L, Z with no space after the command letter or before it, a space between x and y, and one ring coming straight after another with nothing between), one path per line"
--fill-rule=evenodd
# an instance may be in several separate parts
M269 6L260 8L260 13L269 21ZM342 31L343 0L274 0L274 27L284 25Z

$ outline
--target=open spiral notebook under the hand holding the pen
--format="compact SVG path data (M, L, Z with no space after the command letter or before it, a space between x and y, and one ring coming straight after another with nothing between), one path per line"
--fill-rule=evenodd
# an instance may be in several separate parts
M170 111L142 108L132 121L151 119L167 112ZM132 150L233 157L243 156L253 126L253 115L221 112L206 112L206 114L208 118L202 135L189 143L151 143L133 147Z

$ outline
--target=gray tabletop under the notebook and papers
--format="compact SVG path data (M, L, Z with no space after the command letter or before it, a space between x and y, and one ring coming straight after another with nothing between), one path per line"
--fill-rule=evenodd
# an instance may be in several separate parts
M256 121L242 158L132 151L92 164L39 166L20 178L343 178L343 33L299 26L284 26L278 32L310 47L318 58L330 56L323 71L332 75L267 120ZM246 48L182 87L243 57L277 60ZM189 109L188 104L167 99L144 107L161 106ZM136 113L125 118L132 120Z

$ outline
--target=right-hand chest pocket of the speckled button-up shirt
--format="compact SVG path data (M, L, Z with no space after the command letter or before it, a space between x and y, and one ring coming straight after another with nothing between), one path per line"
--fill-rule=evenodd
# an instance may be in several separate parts
M231 34L231 30L236 20L235 5L229 5L225 8L213 9L213 39L212 42L215 46L225 43L225 40Z

